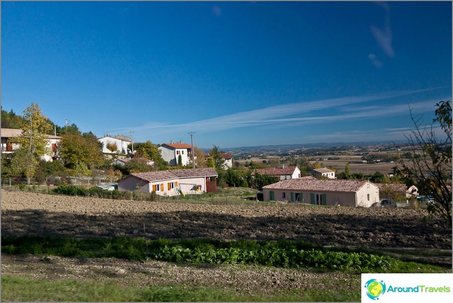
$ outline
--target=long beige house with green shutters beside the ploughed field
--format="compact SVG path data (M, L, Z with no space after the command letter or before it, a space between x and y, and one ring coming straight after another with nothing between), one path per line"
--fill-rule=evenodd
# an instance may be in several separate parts
M264 201L370 207L379 202L379 188L366 180L290 179L263 187Z

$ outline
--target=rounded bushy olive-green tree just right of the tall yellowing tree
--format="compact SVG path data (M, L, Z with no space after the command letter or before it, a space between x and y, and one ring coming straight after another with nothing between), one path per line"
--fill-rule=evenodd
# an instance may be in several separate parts
M67 133L62 136L58 150L65 166L75 168L83 162L89 169L93 169L104 164L99 143L96 136L89 133Z

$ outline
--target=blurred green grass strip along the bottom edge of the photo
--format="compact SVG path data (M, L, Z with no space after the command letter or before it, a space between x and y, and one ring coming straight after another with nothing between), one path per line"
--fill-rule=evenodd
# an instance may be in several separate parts
M2 275L2 301L65 301L65 302L310 302L359 301L360 289L308 289L286 291L276 295L242 294L222 287L177 285L124 287L113 282L80 280L25 279Z

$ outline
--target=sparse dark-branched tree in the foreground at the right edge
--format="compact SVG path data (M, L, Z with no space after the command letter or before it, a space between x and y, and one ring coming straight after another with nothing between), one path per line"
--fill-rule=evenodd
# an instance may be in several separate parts
M430 213L441 215L451 228L451 104L436 104L435 118L429 126L422 126L420 119L410 117L415 125L406 138L413 155L407 162L397 161L396 172L405 179L406 185L414 184L420 195L432 196L427 205ZM438 137L435 130L443 131Z

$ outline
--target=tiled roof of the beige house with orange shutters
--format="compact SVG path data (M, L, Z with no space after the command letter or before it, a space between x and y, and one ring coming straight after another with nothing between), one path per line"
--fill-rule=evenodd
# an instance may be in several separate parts
M184 170L169 170L169 171L157 171L147 173L134 173L130 176L137 177L141 180L152 182L159 180L168 180L176 178L190 178L190 177L214 177L217 176L217 172L213 168L207 169L184 169ZM122 179L126 179L129 176L124 176Z

